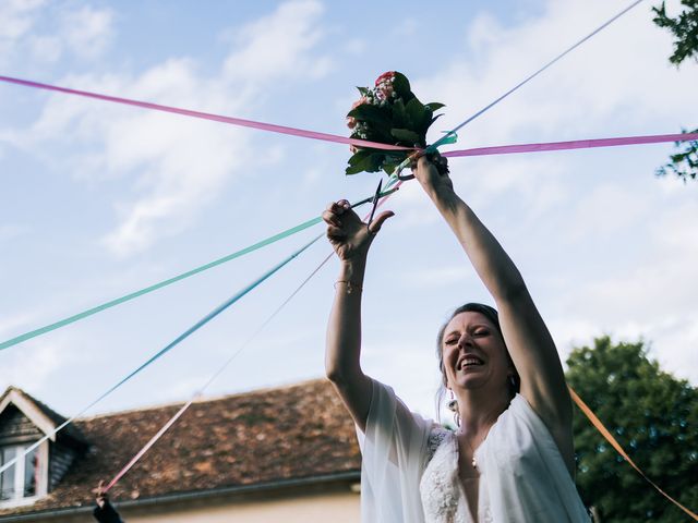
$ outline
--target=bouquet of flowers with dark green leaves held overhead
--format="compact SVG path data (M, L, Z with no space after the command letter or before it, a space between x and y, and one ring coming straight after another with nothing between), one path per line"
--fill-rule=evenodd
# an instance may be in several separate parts
M410 90L407 77L397 71L383 73L373 88L358 87L361 98L347 114L351 138L405 147L426 147L426 131L441 117L434 115L443 104L422 104ZM347 174L377 172L393 174L409 150L381 150L350 146Z

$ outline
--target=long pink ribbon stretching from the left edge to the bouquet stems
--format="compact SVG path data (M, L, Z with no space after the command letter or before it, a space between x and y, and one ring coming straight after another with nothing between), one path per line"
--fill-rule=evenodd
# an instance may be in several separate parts
M304 138L322 139L325 142L336 142L338 144L356 145L360 147L371 147L374 149L412 150L412 148L410 147L399 147L397 145L381 144L378 142L369 142L366 139L347 138L346 136L339 136L337 134L317 133L315 131L287 127L285 125L275 125L273 123L255 122L254 120L244 120L241 118L222 117L220 114L213 114L210 112L192 111L190 109L182 109L179 107L163 106L160 104L151 104L149 101L139 101L139 100L131 100L129 98L121 98L119 96L101 95L99 93L91 93L88 90L69 89L68 87L59 87L57 85L41 84L39 82L32 82L31 80L13 78L11 76L0 76L0 81L7 82L10 84L23 85L25 87L34 87L36 89L53 90L57 93L64 93L68 95L83 96L85 98L95 98L97 100L112 101L115 104L123 104L125 106L142 107L144 109L153 109L155 111L173 112L176 114L182 114L185 117L201 118L203 120L212 120L214 122L229 123L231 125L260 129L262 131L269 131L272 133L290 134L291 136L301 136Z

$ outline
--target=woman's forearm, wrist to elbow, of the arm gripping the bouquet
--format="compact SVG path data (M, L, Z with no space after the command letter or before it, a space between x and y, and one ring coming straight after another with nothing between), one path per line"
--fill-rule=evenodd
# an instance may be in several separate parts
M500 303L525 290L524 279L512 258L454 190L440 187L428 193L494 300Z

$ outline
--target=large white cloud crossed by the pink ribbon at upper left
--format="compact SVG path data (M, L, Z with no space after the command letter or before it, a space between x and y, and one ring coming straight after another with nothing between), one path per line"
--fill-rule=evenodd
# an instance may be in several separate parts
M137 77L81 75L61 84L212 112L236 113L244 101L229 98L225 84L198 78L186 60L169 60ZM134 180L134 196L115 204L119 224L104 238L119 255L146 248L160 235L190 224L240 172L248 150L238 129L63 95L52 96L39 120L25 134L15 134L14 143L74 147L73 156L53 156L51 161L67 163L77 179ZM94 151L87 154L85 147Z

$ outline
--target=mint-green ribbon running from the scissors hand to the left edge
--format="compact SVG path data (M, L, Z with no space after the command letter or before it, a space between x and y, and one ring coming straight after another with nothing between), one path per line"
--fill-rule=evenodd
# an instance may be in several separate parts
M393 192L395 192L395 190L385 191L381 194L381 197L386 196ZM352 208L358 207L359 205L363 205L372 200L373 200L373 196L364 198L360 202L357 202L351 207ZM87 311L83 311L82 313L74 314L73 316L69 316L53 324L49 324L38 329L34 329L23 335L16 336L10 340L7 340L0 343L0 350L8 349L12 345L16 345L17 343L22 343L23 341L31 340L32 338L36 338L37 336L41 336L47 332L51 332L52 330L60 329L61 327L65 327L67 325L74 324L75 321L79 321L88 316L92 316L93 314L97 314L108 308L116 307L117 305L121 305L122 303L143 296L144 294L147 294L149 292L157 291L158 289L163 289L164 287L167 287L167 285L171 285L172 283L181 281L185 278L190 278L194 275L203 272L204 270L212 269L227 262L244 256L245 254L250 254L253 251L270 245L272 243L278 242L279 240L284 240L285 238L296 234L297 232L301 232L312 226L320 223L321 221L322 221L322 217L318 216L316 218L313 218L312 220L304 221L303 223L300 223L296 227L291 227L290 229L279 232L278 234L274 234L273 236L262 240L253 245L250 245L232 254L224 256L222 258L218 258L208 264L188 270L186 272L182 272L181 275L160 281L159 283L155 283L153 285L146 287L145 289L141 289L140 291L135 291L124 296L117 297L116 300L111 300L109 302L103 303L101 305L97 305L96 307L88 308Z

